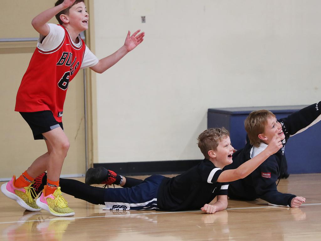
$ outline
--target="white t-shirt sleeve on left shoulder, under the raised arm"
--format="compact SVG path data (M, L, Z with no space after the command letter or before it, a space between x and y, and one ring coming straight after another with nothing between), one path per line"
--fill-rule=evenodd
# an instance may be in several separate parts
M48 35L43 36L40 34L37 43L37 47L43 51L50 51L56 49L65 37L65 30L61 26L53 23L47 24L50 28Z

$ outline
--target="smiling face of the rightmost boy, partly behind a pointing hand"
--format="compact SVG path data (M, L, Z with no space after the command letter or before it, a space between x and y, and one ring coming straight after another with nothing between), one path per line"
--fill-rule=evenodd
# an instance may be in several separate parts
M285 138L285 135L282 131L282 125L280 122L277 121L275 117L269 117L266 120L264 132L262 134L259 134L258 137L265 143L269 144L272 140L275 130L277 129L278 137L283 140Z

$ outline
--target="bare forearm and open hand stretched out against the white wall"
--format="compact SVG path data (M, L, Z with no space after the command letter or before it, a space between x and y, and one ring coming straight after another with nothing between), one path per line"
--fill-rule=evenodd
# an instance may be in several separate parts
M140 32L140 30L137 30L136 32L133 33L132 36L130 36L130 31L128 31L128 34L127 34L127 37L125 40L125 44L120 49L118 49L115 53L113 53L105 58L100 59L96 65L94 65L90 68L93 71L101 74L101 73L105 72L107 69L109 69L110 67L112 67L121 58L123 58L128 52L130 52L131 50L136 48L138 44L143 42L143 40L144 40L143 38L144 38L145 33L142 32L137 35L137 33L139 33L139 32Z

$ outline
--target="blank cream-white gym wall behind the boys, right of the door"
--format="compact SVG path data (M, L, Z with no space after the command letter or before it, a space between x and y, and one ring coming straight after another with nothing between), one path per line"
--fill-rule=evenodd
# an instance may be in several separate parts
M97 75L98 162L201 159L208 108L319 101L320 9L317 0L95 0L98 58L127 30L146 32Z

